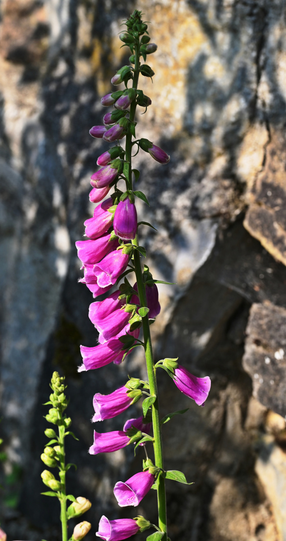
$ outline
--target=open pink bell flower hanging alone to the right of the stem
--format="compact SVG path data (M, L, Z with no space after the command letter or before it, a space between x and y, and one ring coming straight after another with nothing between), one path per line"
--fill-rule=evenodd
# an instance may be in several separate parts
M175 368L174 382L179 391L187 395L187 397L195 400L198 406L202 406L208 398L210 390L210 378L196 378L183 366L179 365Z

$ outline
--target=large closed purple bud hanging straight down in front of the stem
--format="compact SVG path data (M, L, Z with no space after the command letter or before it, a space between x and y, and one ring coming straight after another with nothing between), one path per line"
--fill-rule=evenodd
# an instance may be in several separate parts
M114 214L114 231L119 239L135 239L137 232L137 212L129 197L119 201Z

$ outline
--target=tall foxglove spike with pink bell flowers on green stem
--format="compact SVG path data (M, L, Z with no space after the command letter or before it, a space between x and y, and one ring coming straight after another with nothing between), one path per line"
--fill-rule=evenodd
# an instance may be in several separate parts
M174 380L179 391L195 400L198 405L203 405L208 397L210 379L197 378L190 374L183 366L178 365L177 359L167 358L154 363L150 324L161 308L156 286L158 280L153 279L146 265L143 270L141 266L145 248L139 245L138 227L141 224L150 224L137 223L136 197L145 203L148 203L148 200L142 192L134 190L134 178L135 181L138 180L139 171L132 169L132 149L135 147L136 153L140 149L149 153L161 164L167 164L170 156L148 139L136 139L137 105L146 111L151 104L150 98L138 89L138 79L139 75L149 78L154 75L154 71L144 62L147 55L156 51L157 45L149 43L148 27L142 21L141 12L138 10L130 16L126 25L127 31L122 32L119 38L131 51L131 65L124 65L111 79L114 85L124 83L125 90L110 92L102 97L102 105L113 105L113 109L104 115L104 126L90 129L93 137L103 138L107 142L117 141L115 146L98 157L97 164L102 168L91 176L93 189L90 200L100 202L107 193L109 199L98 205L94 217L84 223L85 234L89 240L76 243L84 270L84 278L80 281L87 285L94 297L108 292L115 285L116 291L111 292L104 300L92 302L90 305L89 318L99 331L99 344L94 347L81 346L83 364L78 370L94 370L110 362L119 364L134 347L144 347L148 381L131 378L125 386L109 395L96 393L95 415L92 420L111 419L127 410L144 394L146 398L142 403L143 415L137 419L129 419L121 431L95 431L94 443L89 452L110 453L130 444L135 444L135 448L145 446L148 442L153 444L155 463L153 464L147 455L143 460L142 471L127 481L118 481L114 493L120 506L137 506L153 486L157 490L158 526L150 524L140 516L120 520L102 517L96 535L105 541L119 541L152 526L156 532L149 536L148 540L167 541L165 479L181 483L187 481L182 472L164 470L161 425L174 414L187 410L173 412L160 419L156 370L163 368ZM124 148L119 143L119 139L123 137ZM118 188L119 181L121 185L122 181L125 182L124 192ZM130 273L135 274L133 286L127 279ZM143 329L142 340L139 340L140 328ZM147 454L147 450L145 452Z

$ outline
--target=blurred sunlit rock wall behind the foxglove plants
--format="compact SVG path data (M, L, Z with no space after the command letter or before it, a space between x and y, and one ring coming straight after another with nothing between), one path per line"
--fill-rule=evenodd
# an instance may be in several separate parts
M151 21L152 106L138 137L171 154L139 155L139 214L148 265L161 286L152 332L157 360L210 375L200 408L159 373L172 541L286 540L286 31L285 0L2 0L0 22L0 283L2 528L8 541L59 539L58 503L44 490L42 404L54 370L66 375L69 492L102 514L156 521L155 493L119 510L115 482L138 471L131 449L91 457L92 396L145 377L141 354L77 374L79 344L95 345L90 292L75 241L91 216L90 175L109 146L88 130L100 97L128 61L122 19ZM142 240L142 243L143 243ZM191 402L191 403L190 403ZM170 408L171 404L171 408ZM121 429L137 407L105 421ZM142 539L145 539L142 536Z

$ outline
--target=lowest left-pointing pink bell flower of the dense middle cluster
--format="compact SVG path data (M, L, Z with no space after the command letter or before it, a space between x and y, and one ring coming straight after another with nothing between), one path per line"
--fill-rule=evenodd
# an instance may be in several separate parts
M109 340L94 347L81 346L81 354L83 365L78 368L78 372L94 370L115 360L122 360L124 350L120 340Z

